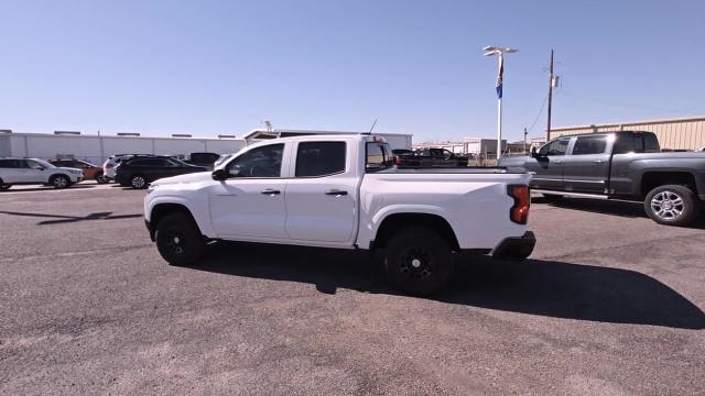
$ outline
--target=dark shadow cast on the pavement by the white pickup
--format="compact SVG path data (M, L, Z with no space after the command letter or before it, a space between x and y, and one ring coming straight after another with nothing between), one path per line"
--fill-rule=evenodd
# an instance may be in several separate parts
M218 243L193 270L399 295L368 254L326 249ZM644 274L619 268L487 256L458 258L454 282L429 299L478 308L608 323L705 329L705 314Z

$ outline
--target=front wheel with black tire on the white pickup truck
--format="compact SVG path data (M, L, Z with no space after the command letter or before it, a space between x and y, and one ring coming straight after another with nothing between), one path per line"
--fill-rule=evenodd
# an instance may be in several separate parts
M185 213L171 213L156 224L156 249L171 265L189 265L203 256L206 242L194 220Z

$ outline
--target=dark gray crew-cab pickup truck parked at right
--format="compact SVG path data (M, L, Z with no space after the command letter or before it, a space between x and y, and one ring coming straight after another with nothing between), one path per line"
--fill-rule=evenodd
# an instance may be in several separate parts
M661 224L692 223L705 201L705 153L661 152L652 132L565 135L498 165L531 172L532 190L549 199L643 201Z

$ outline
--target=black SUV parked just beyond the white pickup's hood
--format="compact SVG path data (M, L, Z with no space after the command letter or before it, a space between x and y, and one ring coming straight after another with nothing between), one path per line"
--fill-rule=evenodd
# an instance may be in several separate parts
M186 164L169 156L135 156L122 161L117 167L115 179L124 187L147 188L156 179L207 170L209 169L204 166Z

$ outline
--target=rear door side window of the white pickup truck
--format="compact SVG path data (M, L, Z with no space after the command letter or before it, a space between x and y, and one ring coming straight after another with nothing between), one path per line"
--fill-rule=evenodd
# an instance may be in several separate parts
M296 177L345 172L345 142L302 142L296 148Z

